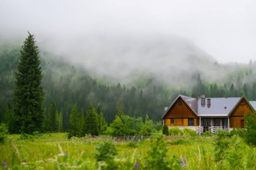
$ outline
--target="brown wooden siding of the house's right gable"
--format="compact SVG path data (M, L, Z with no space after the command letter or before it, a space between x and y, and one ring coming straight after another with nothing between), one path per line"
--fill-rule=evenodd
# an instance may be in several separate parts
M230 128L241 128L243 126L241 126L241 120L245 121L244 116L252 113L253 110L251 110L251 107L249 106L247 101L245 99L242 99L233 110L232 114L230 114Z

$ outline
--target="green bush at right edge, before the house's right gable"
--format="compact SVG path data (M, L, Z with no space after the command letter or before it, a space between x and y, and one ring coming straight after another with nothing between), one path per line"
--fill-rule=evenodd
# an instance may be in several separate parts
M247 128L247 133L245 138L247 142L253 145L256 145L256 113L255 112L247 116L246 128Z

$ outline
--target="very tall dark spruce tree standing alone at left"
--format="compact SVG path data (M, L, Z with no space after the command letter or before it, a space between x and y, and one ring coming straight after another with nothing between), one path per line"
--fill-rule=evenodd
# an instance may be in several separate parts
M34 35L29 32L20 54L13 89L15 130L32 134L36 130L41 130L44 120L42 108L44 91L41 85L39 49Z

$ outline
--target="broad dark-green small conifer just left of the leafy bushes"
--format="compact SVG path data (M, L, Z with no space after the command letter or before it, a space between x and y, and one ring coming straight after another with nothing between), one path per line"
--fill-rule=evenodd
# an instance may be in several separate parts
M90 104L89 110L86 112L86 133L92 136L98 136L99 134L98 115L92 104Z

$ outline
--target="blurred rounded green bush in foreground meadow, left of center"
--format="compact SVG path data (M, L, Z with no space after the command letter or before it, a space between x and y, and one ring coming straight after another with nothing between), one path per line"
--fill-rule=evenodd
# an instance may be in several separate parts
M117 148L115 144L111 141L105 141L96 146L96 153L94 153L95 159L98 161L103 161L101 169L113 169L114 158L117 155Z

